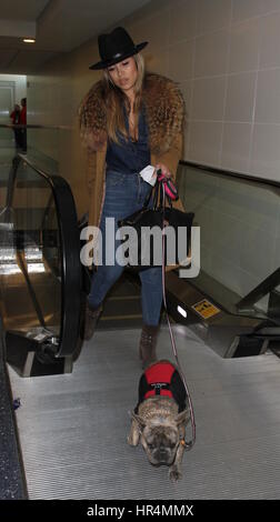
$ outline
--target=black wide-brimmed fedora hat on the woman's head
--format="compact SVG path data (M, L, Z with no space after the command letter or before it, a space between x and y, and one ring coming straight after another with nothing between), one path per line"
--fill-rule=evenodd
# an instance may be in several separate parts
M98 37L98 47L101 61L90 66L90 69L106 69L113 66L126 58L137 54L147 46L148 42L134 44L132 38L123 29L117 27L109 34L100 34Z

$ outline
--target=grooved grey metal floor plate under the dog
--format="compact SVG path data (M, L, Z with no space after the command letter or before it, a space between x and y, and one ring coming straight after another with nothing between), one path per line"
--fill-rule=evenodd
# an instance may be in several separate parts
M279 499L279 359L221 359L188 329L174 332L197 421L182 481L172 484L167 468L126 442L140 330L97 331L72 374L9 370L30 499ZM166 328L159 347L172 359Z

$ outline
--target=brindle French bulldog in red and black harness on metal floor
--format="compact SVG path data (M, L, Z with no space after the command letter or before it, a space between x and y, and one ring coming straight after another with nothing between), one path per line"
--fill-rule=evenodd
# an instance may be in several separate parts
M186 426L190 420L187 392L177 368L167 360L146 369L139 381L139 401L131 413L128 443L141 442L151 464L170 466L169 478L182 478Z

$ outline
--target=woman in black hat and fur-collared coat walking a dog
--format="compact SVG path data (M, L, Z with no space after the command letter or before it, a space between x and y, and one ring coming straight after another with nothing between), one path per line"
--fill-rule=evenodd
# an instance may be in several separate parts
M118 220L140 210L151 184L140 172L148 165L174 177L182 152L184 104L177 84L144 72L140 51L148 42L134 44L119 27L98 38L101 61L90 69L103 71L103 78L90 89L79 109L81 139L88 149L89 225L99 227L106 245L106 220ZM177 202L178 203L178 202ZM181 203L177 204L182 208ZM109 237L110 244L114 238ZM93 334L102 301L124 267L114 263L93 271L88 295L83 339ZM157 360L156 343L162 305L161 267L139 272L143 325L139 355L142 367Z

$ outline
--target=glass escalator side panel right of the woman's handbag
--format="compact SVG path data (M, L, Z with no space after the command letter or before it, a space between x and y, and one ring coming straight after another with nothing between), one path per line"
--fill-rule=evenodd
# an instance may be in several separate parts
M191 282L239 314L239 301L280 265L280 188L190 164L179 165L178 184L201 228L201 273ZM242 313L266 317L269 297Z

